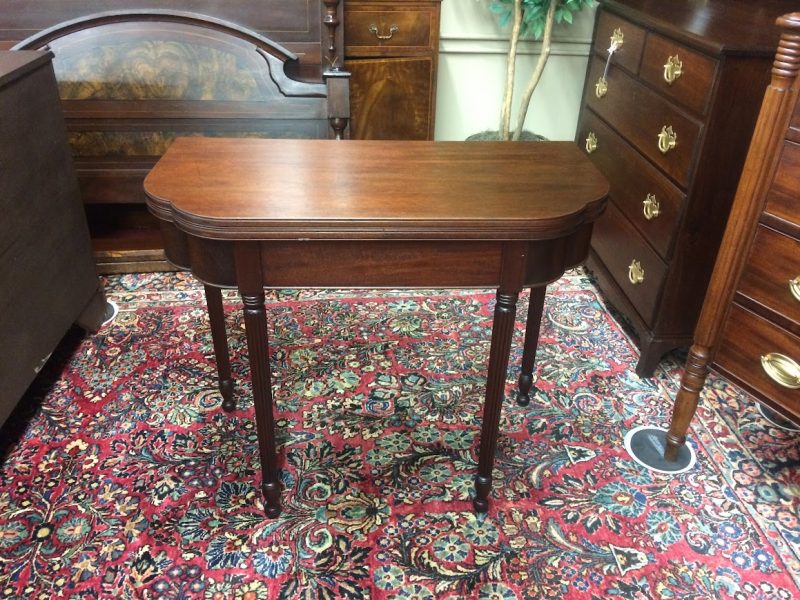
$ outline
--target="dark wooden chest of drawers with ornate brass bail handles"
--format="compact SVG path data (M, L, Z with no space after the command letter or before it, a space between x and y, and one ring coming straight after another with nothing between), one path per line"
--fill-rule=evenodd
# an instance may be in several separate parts
M691 343L792 4L601 2L577 142L611 203L588 266L637 334L641 376Z

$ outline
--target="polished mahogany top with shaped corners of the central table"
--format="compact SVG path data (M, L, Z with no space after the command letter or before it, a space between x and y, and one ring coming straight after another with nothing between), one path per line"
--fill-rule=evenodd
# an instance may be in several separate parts
M573 142L177 139L150 210L210 239L549 239L602 211Z

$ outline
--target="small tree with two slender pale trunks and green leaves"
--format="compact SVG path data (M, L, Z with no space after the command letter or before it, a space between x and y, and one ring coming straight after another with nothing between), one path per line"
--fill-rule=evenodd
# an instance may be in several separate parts
M544 72L553 39L553 27L559 23L572 23L573 14L584 7L594 6L595 0L490 0L489 9L494 13L501 27L508 27L509 46L506 63L506 83L500 111L499 132L484 132L470 139L519 140L542 139L541 136L523 132L525 116L530 108L531 98ZM530 38L542 41L542 50L533 68L528 84L522 95L514 128L512 122L512 100L516 79L517 49L521 39Z

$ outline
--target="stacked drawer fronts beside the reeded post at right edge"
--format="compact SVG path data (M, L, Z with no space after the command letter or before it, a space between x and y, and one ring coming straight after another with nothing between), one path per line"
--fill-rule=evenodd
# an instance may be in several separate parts
M760 199L749 254L739 250L747 258L714 363L800 420L800 107L772 156L777 172Z

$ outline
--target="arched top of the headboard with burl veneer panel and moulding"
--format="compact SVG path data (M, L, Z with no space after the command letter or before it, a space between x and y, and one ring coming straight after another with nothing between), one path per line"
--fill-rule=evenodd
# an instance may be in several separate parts
M297 56L283 46L234 23L189 12L88 15L44 30L15 49L55 54L63 100L263 101L326 93L320 73L315 82L287 74L296 71Z

